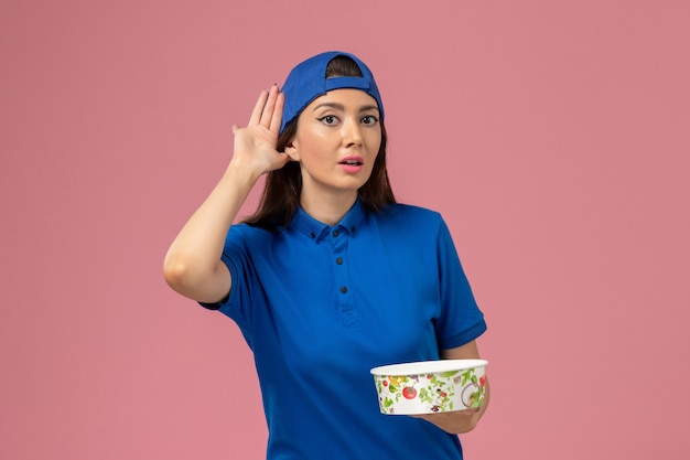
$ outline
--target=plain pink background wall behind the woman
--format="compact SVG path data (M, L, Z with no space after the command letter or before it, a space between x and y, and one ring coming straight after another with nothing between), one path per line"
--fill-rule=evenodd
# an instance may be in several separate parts
M231 124L327 49L485 310L467 458L688 458L689 4L3 0L0 458L263 457L237 328L161 265Z

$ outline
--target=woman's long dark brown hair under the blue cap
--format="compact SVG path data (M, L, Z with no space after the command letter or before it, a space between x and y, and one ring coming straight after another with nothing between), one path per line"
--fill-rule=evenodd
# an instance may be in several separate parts
M334 57L326 67L326 78L335 76L362 76L362 71L347 56ZM381 120L381 145L374 162L369 180L359 188L362 204L369 211L380 211L387 204L396 202L388 170L386 169L386 128ZM282 152L294 138L298 130L298 119L288 125L278 138L277 150ZM271 231L285 227L290 224L298 206L302 192L302 172L300 164L288 162L283 168L271 171L266 175L266 185L257 212L247 217L245 223Z

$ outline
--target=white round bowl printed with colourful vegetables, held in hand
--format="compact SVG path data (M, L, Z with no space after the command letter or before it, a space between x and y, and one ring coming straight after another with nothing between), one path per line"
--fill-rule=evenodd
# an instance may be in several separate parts
M485 360L439 360L374 367L381 414L450 413L481 407Z

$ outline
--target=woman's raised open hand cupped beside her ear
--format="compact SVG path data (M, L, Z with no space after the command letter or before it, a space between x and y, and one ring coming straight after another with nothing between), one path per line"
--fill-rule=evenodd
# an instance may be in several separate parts
M290 160L288 154L276 149L283 103L284 95L278 85L273 85L259 95L247 127L233 126L235 150L231 162L235 165L247 168L258 176L282 168Z

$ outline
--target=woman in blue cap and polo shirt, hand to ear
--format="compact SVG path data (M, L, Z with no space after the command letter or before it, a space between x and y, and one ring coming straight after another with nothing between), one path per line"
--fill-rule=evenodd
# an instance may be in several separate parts
M233 131L233 159L170 247L164 276L239 325L267 458L462 459L456 434L475 427L488 397L478 410L385 416L369 375L477 359L486 330L441 216L395 201L369 68L347 53L313 56ZM262 174L258 211L234 224Z

